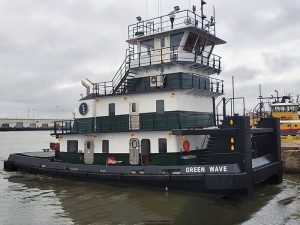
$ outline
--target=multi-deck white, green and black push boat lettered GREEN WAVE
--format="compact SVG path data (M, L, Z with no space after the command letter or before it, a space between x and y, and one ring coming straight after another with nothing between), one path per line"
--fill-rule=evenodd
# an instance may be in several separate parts
M128 26L128 49L108 82L82 81L74 120L57 121L55 151L10 154L8 171L196 191L252 194L282 182L279 120L216 115L226 42L206 19L178 6ZM219 104L218 104L219 105ZM221 104L222 105L222 104Z

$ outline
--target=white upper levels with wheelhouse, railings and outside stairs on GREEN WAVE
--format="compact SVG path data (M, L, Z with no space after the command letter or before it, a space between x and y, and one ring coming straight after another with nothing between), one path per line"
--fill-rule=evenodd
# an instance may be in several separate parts
M197 89L223 94L223 81L209 76L222 71L221 56L214 54L214 49L215 45L226 42L216 37L214 17L207 20L203 9L201 15L196 14L194 7L193 11L180 11L179 7L174 7L171 13L164 16L148 20L137 17L137 23L128 26L125 60L111 81L90 82L93 94L98 96L133 93L137 90L153 91L153 88L148 88L148 83L154 80L159 81L159 88L155 89L174 88L166 82L172 77L171 74L190 74L192 87L195 86L194 80L199 79ZM141 78L147 84L142 89L137 89L135 84ZM202 81L205 88L202 88ZM152 83L151 87L156 85ZM91 89L87 84L84 86ZM180 89L181 85L175 88Z

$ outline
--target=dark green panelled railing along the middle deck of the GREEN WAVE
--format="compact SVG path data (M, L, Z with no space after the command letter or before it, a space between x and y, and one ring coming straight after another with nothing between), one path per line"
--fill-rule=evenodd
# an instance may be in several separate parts
M126 132L130 130L172 130L204 128L213 125L211 113L165 112L115 115L57 121L53 135L76 133Z

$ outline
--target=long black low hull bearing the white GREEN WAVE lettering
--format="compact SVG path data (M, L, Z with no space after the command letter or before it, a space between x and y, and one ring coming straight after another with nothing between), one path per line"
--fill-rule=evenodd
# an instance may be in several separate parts
M195 191L236 191L252 189L255 184L275 178L281 182L282 164L262 157L253 162L249 174L234 164L205 166L100 166L55 161L48 152L11 154L4 162L7 171L21 171L63 178L138 183ZM216 170L218 172L212 172ZM223 170L223 171L220 171ZM224 171L225 170L225 171ZM227 171L226 171L227 170ZM176 171L176 172L175 172Z

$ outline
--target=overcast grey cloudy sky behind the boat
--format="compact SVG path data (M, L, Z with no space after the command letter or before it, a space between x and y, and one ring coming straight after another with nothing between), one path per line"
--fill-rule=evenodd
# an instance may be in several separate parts
M159 3L160 2L160 7ZM200 0L0 0L0 117L70 118L80 80L110 80L124 60L127 25ZM226 95L231 76L246 107L300 94L300 1L207 0L216 8ZM197 9L197 10L198 10ZM199 12L199 11L198 11ZM29 112L29 114L28 114Z

